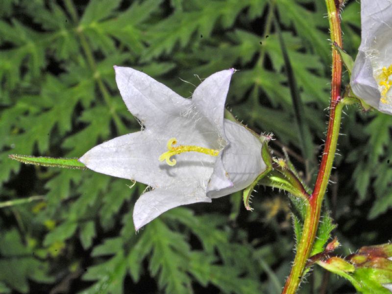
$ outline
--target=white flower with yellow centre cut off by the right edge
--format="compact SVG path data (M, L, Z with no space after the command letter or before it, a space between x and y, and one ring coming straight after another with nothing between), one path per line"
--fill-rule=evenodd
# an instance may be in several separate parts
M392 114L391 0L362 0L361 28L351 89L370 106Z

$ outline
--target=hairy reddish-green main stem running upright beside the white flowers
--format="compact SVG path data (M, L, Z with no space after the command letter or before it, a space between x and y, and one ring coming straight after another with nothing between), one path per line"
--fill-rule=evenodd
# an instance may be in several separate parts
M336 43L342 48L342 31L339 16L341 0L325 0L325 2L328 10L332 44ZM341 103L342 61L334 46L332 46L332 63L331 105L325 146L315 188L306 205L306 217L302 237L298 244L294 264L282 294L295 294L301 282L307 260L315 242L320 220L321 204L328 186L332 164L335 158L344 104Z

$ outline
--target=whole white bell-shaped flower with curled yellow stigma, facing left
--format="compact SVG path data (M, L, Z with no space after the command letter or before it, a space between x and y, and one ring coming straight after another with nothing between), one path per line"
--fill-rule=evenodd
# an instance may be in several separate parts
M192 99L135 69L115 71L142 131L104 142L79 160L96 172L151 188L135 204L136 229L173 207L242 190L266 170L263 138L223 117L234 69L206 78Z

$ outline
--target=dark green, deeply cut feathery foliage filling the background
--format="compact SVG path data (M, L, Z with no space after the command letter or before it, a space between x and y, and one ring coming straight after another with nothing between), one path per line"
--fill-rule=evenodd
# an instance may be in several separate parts
M349 1L342 14L352 56L359 11ZM184 97L199 78L234 67L228 109L273 133L274 155L286 146L312 186L330 88L323 1L2 0L0 14L0 293L279 294L295 245L283 192L259 187L253 212L240 193L180 207L135 233L132 209L144 185L8 155L80 157L138 131L113 65L143 70ZM274 20L312 135L307 173ZM345 113L325 202L342 254L387 242L392 225L392 119L357 106ZM301 293L354 293L318 268L307 281Z

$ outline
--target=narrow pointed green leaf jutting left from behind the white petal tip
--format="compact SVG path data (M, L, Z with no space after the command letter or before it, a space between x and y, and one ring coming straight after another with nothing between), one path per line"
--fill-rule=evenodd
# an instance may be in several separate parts
M86 166L78 161L78 158L52 158L52 157L35 157L28 155L10 154L11 159L23 162L25 164L35 164L41 166L86 169Z

